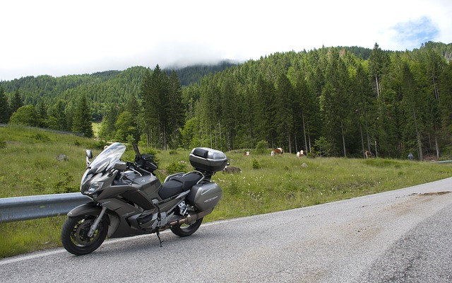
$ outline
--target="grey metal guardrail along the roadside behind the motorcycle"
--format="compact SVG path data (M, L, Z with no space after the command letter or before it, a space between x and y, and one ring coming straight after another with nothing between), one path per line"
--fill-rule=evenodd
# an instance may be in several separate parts
M0 223L64 215L90 200L81 192L0 198Z

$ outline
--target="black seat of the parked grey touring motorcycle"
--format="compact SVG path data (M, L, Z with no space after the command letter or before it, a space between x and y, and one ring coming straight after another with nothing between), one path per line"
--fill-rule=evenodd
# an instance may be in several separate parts
M203 178L203 175L196 172L187 173L182 176L174 176L167 182L162 184L162 190L158 192L162 200L166 200L169 197L178 195L181 192L190 190L191 187L196 185L199 180Z

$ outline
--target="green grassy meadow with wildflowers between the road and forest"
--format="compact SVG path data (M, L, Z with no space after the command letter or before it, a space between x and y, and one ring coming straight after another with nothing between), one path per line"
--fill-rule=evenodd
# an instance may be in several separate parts
M103 144L69 134L39 129L0 127L0 197L78 192L85 169L85 149L97 155ZM148 149L141 148L142 153ZM217 173L213 180L223 197L205 221L263 214L396 190L452 175L449 163L393 159L297 158L250 156L226 152L242 173ZM64 154L66 161L57 160ZM189 171L189 151L157 151L164 180L173 171ZM133 159L126 151L125 160ZM180 161L185 161L180 162ZM185 165L184 165L185 164ZM61 246L59 233L66 216L0 224L0 258Z

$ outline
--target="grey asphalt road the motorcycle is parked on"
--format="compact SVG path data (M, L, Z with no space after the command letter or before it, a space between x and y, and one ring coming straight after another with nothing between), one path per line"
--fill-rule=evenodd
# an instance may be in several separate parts
M0 260L0 282L452 282L452 178Z

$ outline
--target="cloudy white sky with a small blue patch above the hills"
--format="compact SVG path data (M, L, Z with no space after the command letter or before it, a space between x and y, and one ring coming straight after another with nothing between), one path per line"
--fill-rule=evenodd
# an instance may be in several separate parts
M0 81L244 62L275 52L452 43L452 0L14 0L0 4Z

